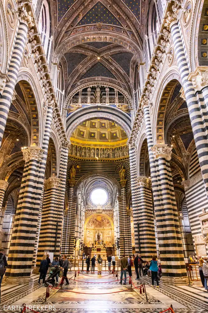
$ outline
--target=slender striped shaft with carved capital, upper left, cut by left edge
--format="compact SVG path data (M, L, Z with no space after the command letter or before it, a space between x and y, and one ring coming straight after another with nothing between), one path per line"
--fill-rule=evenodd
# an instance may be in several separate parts
M26 8L22 8L18 21L19 28L17 38L7 73L9 77L9 82L6 83L4 91L2 92L2 97L0 99L0 146L2 143L5 126L7 123L7 117L9 114L9 108L12 102L12 96L17 82L17 75L19 73L23 51L27 40L27 32L29 28L34 26L32 20L33 18L31 16L28 17Z

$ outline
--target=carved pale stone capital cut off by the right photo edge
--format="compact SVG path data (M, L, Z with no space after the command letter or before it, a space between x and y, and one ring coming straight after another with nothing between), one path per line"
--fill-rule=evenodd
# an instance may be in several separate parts
M194 72L188 75L188 80L192 82L195 91L201 91L208 86L208 69L207 66L197 66Z

